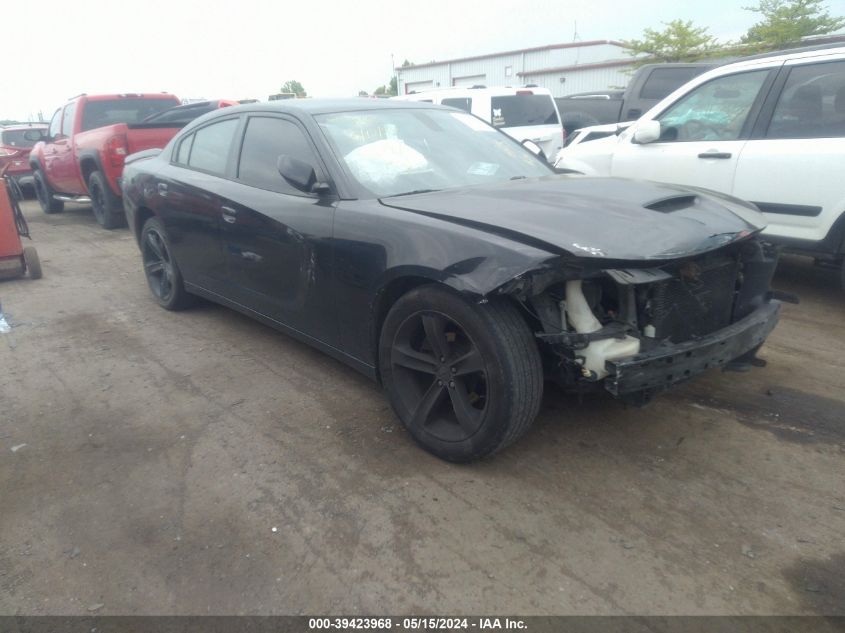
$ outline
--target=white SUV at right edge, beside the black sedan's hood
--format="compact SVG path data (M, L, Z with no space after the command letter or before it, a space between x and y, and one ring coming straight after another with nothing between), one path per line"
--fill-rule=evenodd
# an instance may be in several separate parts
M845 284L845 47L713 69L618 135L564 148L556 166L750 200L771 241L839 263Z

